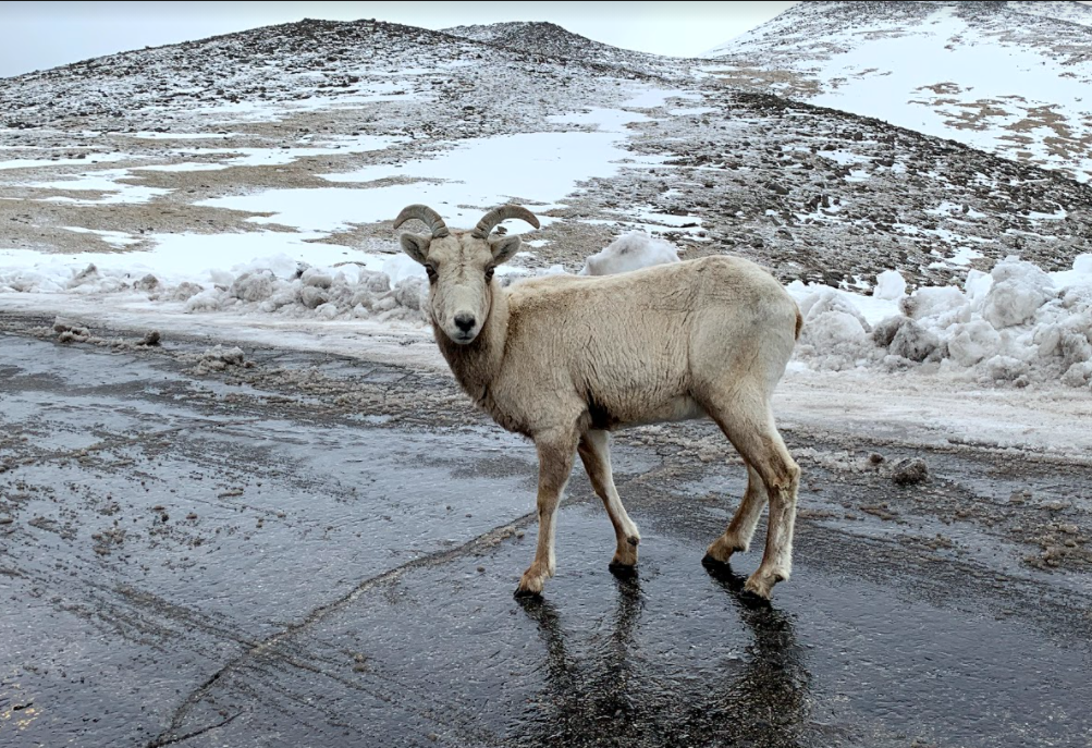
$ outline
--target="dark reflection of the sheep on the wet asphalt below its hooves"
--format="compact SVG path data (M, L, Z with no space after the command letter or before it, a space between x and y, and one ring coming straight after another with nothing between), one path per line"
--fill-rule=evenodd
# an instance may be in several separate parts
M746 578L731 567L709 565L707 571L753 637L744 667L737 660L712 662L724 674L712 680L664 677L637 651L644 605L639 574L616 578L613 630L598 652L584 658L568 653L563 617L554 603L518 598L547 653L547 688L527 715L527 725L539 726L542 734L521 736L520 743L794 745L810 702L792 621L744 593Z

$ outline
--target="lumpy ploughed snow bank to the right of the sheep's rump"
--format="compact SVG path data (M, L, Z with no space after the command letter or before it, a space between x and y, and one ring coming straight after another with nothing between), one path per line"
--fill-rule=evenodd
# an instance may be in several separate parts
M1058 273L1009 257L988 274L969 271L963 288L910 296L902 295L901 277L881 275L868 304L847 292L790 284L805 317L797 358L829 371L928 367L983 384L1090 387L1092 254ZM882 310L877 296L889 314L869 329L863 310Z

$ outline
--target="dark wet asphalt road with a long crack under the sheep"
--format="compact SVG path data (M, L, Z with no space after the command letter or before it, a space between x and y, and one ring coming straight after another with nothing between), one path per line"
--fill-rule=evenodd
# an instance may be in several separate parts
M194 373L204 347L0 334L4 748L1092 745L1087 467L786 431L796 565L765 606L755 550L700 563L741 465L705 424L637 431L638 574L577 474L558 575L518 601L529 444L443 378ZM930 480L897 486L904 456Z

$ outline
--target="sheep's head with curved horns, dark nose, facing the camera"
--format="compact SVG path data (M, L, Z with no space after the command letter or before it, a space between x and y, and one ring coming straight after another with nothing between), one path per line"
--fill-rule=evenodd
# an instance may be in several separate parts
M507 218L520 218L538 228L538 219L519 205L501 205L486 213L470 231L452 234L440 214L426 205L408 205L394 219L397 228L411 218L428 225L430 234L403 234L402 249L425 265L428 306L434 324L459 345L482 332L492 307L492 273L520 250L519 236L489 238Z

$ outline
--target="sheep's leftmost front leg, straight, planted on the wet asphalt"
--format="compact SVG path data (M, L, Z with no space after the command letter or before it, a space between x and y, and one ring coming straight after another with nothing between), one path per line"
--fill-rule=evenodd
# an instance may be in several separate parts
M548 434L535 438L538 451L538 544L535 560L523 572L518 595L537 595L546 580L554 575L554 529L557 523L557 504L565 492L565 485L572 472L577 451L577 436Z

